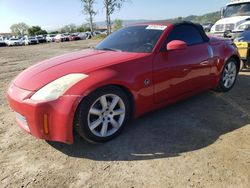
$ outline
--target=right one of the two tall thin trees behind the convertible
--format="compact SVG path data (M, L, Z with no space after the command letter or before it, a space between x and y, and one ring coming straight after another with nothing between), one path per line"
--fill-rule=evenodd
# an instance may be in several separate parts
M104 8L106 10L106 24L107 24L107 33L108 35L111 33L111 14L113 14L116 10L120 10L123 3L126 0L104 0Z

